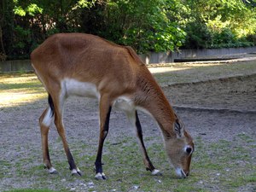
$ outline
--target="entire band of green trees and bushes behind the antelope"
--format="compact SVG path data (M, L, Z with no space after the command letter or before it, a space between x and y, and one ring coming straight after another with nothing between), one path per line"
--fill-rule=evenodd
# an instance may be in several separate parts
M27 58L56 32L96 34L138 53L252 46L255 7L254 0L3 0L0 54Z

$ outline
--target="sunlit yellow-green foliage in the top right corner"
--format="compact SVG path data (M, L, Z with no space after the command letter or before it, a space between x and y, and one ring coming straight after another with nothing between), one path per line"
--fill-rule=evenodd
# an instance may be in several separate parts
M256 32L253 1L189 0L188 22L184 24L186 48L222 48L252 46Z

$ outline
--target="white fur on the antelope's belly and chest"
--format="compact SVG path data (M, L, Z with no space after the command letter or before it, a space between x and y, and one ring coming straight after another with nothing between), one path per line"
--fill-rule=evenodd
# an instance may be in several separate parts
M76 79L63 79L61 88L67 93L67 96L85 96L100 100L101 95L96 88L96 84L80 82ZM63 91L63 90L62 90ZM135 105L127 96L119 96L113 101L113 107L118 110L131 112L135 110Z

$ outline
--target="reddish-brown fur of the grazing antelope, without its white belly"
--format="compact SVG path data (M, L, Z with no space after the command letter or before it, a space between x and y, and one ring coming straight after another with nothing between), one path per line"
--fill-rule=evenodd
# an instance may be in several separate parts
M194 148L192 138L183 131L183 127L180 127L183 137L177 138L177 133L173 129L177 116L148 68L131 47L119 46L89 34L55 34L32 52L31 60L38 79L52 96L55 105L55 125L71 166L73 158L69 152L64 125L62 125L59 101L61 80L64 78L96 84L96 89L101 95L100 141L103 141L101 139L104 125L106 120L108 121L107 114L110 113L108 108L117 97L127 96L137 107L144 108L152 114L160 125L166 152L173 165L180 166L185 173L189 173L191 155L184 154L183 147L189 145ZM46 110L40 118L40 125L44 163L50 168L47 144L49 127L42 124ZM72 168L76 169L76 166L73 165Z

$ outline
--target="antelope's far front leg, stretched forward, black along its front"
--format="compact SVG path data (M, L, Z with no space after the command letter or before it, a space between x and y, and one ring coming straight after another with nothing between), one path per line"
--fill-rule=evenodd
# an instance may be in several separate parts
M151 160L148 157L148 153L145 147L145 144L143 142L143 130L142 130L142 125L140 123L140 120L137 115L137 111L128 113L127 114L128 119L131 122L131 125L135 126L136 131L137 131L137 138L138 138L138 143L139 146L143 152L143 162L144 165L146 166L146 170L150 171L152 175L161 175L160 171L155 169Z

